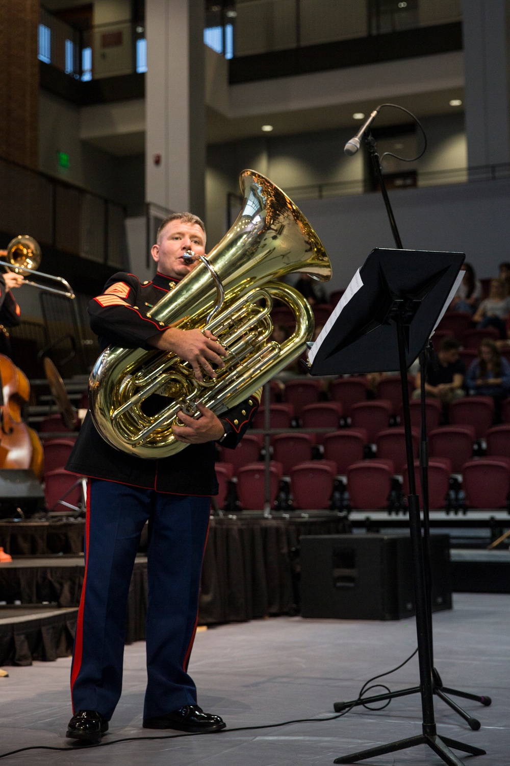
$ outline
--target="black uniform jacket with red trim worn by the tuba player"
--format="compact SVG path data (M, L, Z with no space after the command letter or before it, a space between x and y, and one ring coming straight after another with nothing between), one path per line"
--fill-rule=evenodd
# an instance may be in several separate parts
M146 314L158 300L173 290L177 280L156 274L151 282L116 273L106 283L104 293L89 303L90 326L99 336L102 349L121 345L130 349L148 349L148 338L165 328ZM233 449L249 427L258 408L258 396L251 396L221 417L227 436L223 447ZM102 438L87 413L76 445L67 461L67 470L96 479L155 489L177 495L216 495L218 483L214 470L215 443L190 444L176 455L151 460L115 450Z

